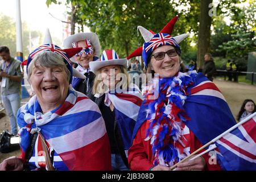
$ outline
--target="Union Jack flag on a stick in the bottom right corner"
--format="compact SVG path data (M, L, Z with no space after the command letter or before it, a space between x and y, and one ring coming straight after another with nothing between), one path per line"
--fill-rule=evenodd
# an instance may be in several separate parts
M216 142L217 155L226 170L256 170L256 113Z

